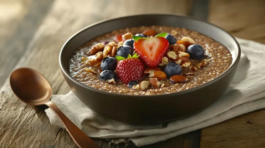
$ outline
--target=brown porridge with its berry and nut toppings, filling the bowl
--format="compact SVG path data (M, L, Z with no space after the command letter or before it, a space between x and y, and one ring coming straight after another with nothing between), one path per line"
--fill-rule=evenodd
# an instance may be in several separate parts
M207 83L232 62L229 50L210 37L167 26L125 28L77 49L70 73L79 82L112 93L174 93Z

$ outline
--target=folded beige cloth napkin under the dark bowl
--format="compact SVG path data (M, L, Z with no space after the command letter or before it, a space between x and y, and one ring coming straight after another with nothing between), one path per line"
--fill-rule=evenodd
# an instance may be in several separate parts
M159 141L204 128L257 109L265 108L265 45L238 39L242 54L231 85L217 102L203 111L173 122L166 127L133 125L99 116L86 108L72 92L54 95L52 101L90 137L129 138L136 146ZM218 91L218 90L217 90ZM50 122L64 128L58 117L45 110Z

